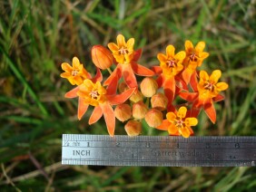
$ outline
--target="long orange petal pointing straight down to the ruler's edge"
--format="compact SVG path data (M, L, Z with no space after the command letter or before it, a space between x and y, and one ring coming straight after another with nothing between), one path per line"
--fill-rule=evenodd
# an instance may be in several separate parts
M113 137L114 128L115 128L115 117L114 117L113 108L108 103L103 103L100 106L103 110L103 117L106 122L108 133L111 137Z

